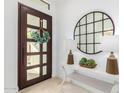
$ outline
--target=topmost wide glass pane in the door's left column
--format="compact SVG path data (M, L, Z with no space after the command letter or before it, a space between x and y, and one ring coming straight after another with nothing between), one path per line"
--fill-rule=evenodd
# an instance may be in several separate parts
M40 27L40 18L31 14L27 14L27 24Z

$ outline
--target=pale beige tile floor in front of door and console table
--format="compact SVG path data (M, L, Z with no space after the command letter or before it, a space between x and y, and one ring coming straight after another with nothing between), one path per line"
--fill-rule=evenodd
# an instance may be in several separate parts
M67 82L64 84L62 91L60 91L60 88L58 87L60 82L61 80L58 78L51 78L25 88L18 93L91 93L86 89Z

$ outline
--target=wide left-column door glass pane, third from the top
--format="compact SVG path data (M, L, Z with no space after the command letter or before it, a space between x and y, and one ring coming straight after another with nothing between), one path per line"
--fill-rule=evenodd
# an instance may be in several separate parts
M27 52L40 52L40 44L36 42L27 42Z

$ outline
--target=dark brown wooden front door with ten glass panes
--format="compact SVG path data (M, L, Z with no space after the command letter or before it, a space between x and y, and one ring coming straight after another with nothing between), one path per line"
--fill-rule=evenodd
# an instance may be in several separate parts
M19 4L18 86L23 89L51 77L52 74L52 17ZM31 37L36 31L42 36L48 31L48 43L38 44Z

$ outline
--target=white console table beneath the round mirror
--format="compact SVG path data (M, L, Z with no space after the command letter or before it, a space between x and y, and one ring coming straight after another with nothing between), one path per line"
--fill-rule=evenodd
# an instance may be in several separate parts
M97 69L89 69L78 65L63 65L65 78L69 78L73 83L86 88L92 93L118 93L119 76L111 75ZM64 82L63 82L64 83Z

